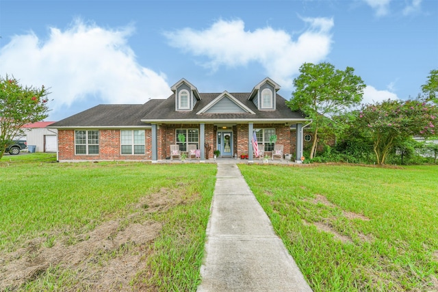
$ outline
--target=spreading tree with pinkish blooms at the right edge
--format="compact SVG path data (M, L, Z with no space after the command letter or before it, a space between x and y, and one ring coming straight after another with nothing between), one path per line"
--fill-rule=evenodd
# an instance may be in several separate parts
M383 101L362 105L353 127L369 137L378 164L385 164L388 153L413 136L430 137L438 127L435 105L418 101Z

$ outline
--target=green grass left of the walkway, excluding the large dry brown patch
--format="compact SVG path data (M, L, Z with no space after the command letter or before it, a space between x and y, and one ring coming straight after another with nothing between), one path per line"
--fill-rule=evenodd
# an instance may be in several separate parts
M43 153L0 159L0 255L27 248L40 238L44 240L38 248L75 245L110 220L120 222L119 231L129 224L159 222L162 228L150 243L99 250L84 258L86 266L99 267L140 253L146 267L138 271L131 287L196 289L216 165L54 161L53 155ZM20 289L93 290L88 277L81 269L59 263L28 279Z

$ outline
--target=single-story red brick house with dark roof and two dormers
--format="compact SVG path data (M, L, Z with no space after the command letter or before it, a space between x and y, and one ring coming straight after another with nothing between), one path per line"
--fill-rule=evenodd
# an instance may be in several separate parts
M181 151L194 144L199 160L219 157L253 158L251 138L256 134L259 149L269 154L276 144L292 160L302 157L302 129L309 120L291 111L276 92L280 86L263 79L251 92L199 93L181 79L166 99L152 99L143 105L97 105L49 128L57 129L59 161L150 160L170 157L170 145ZM185 142L179 135L185 136Z

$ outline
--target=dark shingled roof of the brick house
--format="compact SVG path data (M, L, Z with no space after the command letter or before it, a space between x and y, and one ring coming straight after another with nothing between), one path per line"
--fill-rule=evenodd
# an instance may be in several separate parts
M304 119L301 111L291 111L285 105L285 99L276 94L276 110L259 111L253 101L248 101L250 93L230 93L240 103L251 109L255 114L196 114L211 103L220 93L200 94L201 101L196 103L192 111L175 111L175 94L167 99L152 99L143 105L97 105L79 114L75 114L59 122L51 124L50 128L62 127L141 127L149 121L159 120L228 120L228 119ZM144 120L145 122L142 122Z

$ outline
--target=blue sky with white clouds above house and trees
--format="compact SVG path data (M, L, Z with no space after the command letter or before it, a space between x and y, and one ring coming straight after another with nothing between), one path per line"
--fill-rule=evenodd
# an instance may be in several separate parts
M415 98L438 68L438 1L0 0L0 75L50 88L46 120L99 104L250 92L286 99L304 62L355 68L363 103Z

